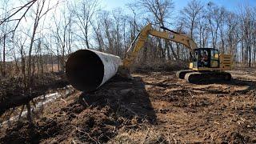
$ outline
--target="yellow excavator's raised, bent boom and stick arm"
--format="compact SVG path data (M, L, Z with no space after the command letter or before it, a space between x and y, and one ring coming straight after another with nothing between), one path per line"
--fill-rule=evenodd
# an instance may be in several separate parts
M167 28L162 27L164 30L168 30ZM192 38L187 37L186 35L179 34L173 30L168 31L158 31L154 30L151 24L148 24L144 28L142 28L141 32L138 34L137 38L134 39L134 42L138 39L136 42L136 45L134 47L134 50L130 52L131 47L133 46L133 43L130 45L130 48L127 50L126 58L122 62L122 66L119 70L121 71L122 75L126 75L124 73L128 73L130 75L130 66L133 64L134 60L138 56L139 50L142 49L144 46L146 39L149 35L158 37L158 38L164 38L173 42L178 42L186 46L190 51L197 48L197 44L193 41ZM125 70L123 70L125 69ZM127 77L127 75L126 75Z

